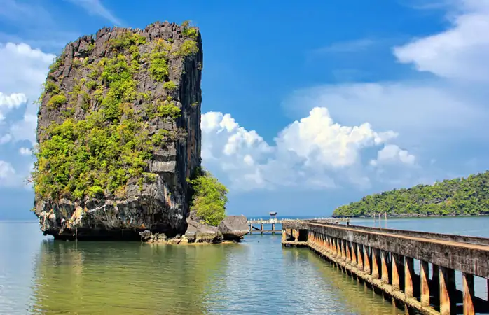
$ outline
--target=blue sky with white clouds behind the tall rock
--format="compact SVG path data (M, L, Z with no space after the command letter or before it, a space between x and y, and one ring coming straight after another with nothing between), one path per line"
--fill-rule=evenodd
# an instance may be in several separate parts
M0 218L33 218L32 101L53 57L156 20L202 32L202 160L230 214L328 215L488 168L488 0L3 0Z

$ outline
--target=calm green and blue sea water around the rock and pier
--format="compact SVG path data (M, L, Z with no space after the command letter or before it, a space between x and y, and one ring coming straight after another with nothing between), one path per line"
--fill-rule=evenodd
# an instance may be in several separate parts
M387 227L489 237L489 217L389 219ZM37 223L0 222L0 253L0 314L401 313L312 251L282 248L280 235L76 244L43 237Z

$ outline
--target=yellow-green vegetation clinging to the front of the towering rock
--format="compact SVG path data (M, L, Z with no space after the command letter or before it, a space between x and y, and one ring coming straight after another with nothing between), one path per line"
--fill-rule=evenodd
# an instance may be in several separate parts
M56 74L55 78L54 74L62 66L63 57L57 57L50 66L41 99L48 109L60 111L65 119L63 123L53 121L48 127L41 127L39 133L32 181L40 200L119 196L129 183L142 187L144 181L154 181L157 176L149 172L153 151L165 141L185 135L176 128L158 130L150 136L149 120L164 118L173 122L180 117L181 109L172 97L151 99L150 92L137 91L141 71L149 71L153 80L164 82L166 90L177 87L173 81L165 82L172 45L161 39L156 41L146 59L140 55L139 46L152 43L132 31L123 32L109 44L112 50L106 57L78 66L71 91L65 91L68 97L60 90L58 82L62 76ZM88 50L93 50L93 44ZM149 62L149 67L143 70L141 62ZM135 113L137 102L143 104L143 110ZM76 106L83 109L84 118L74 118Z

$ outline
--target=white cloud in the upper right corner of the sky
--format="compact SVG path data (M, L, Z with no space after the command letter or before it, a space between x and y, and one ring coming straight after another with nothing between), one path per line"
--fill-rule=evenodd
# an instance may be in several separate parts
M489 1L457 0L452 27L394 48L402 63L419 71L463 80L489 80Z

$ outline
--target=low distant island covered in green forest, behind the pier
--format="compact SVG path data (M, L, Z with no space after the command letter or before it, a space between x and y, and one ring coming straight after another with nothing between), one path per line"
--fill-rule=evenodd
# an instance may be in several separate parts
M489 214L489 172L368 195L333 216L464 216Z

